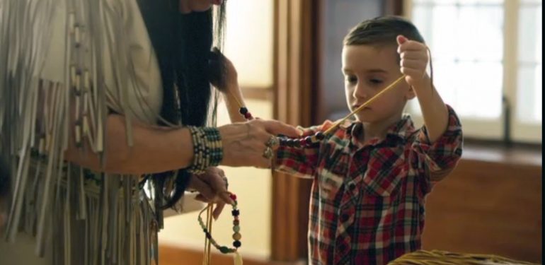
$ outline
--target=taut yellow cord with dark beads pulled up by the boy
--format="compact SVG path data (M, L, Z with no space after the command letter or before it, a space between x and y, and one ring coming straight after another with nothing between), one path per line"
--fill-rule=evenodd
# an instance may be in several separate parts
M381 90L379 93L377 93L377 95L374 95L372 98L370 98L369 100L367 100L367 102L363 103L360 107L358 107L356 110L354 110L353 112L351 112L350 114L346 115L343 119L340 119L338 122L335 122L335 124L333 124L333 126L331 126L329 129L327 129L326 131L318 131L316 132L316 134L314 134L313 136L306 136L304 138L301 138L301 139L290 139L290 138L287 138L287 137L279 137L279 143L280 143L280 146L289 146L289 147L296 147L296 148L305 148L305 147L309 147L309 146L314 146L314 144L318 143L319 141L323 140L327 134L330 134L331 132L335 131L335 129L337 129L337 127L342 124L346 119L352 117L352 115L356 114L357 112L360 112L360 110L363 110L365 107L369 106L372 102L374 102L375 100L377 100L377 98L379 98L381 95L383 95L384 93L386 93L386 91L389 91L391 90L392 88L394 88L399 82L403 81L403 79L406 77L406 75L402 75L400 76L399 78L396 79L396 81L392 82L389 86L386 86L386 88L384 88L383 90ZM246 118L246 120L251 120L253 119L252 117L252 114L250 112L248 112L248 109L246 107L244 107L241 102L236 99L236 96L234 96L231 91L229 91L229 93L231 94L231 98L234 98L234 100L237 102L237 104L239 104L239 107L240 107L240 114Z

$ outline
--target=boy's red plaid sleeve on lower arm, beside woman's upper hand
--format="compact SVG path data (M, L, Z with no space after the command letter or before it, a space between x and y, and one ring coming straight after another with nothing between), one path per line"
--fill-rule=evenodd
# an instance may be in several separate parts
M298 127L303 131L303 137L312 136L318 131L324 131L331 127L333 123L326 121L321 125L311 126L309 128ZM280 146L276 151L275 169L280 172L286 172L297 177L311 178L316 172L316 166L319 160L319 150L323 141L312 147L293 148L289 146Z

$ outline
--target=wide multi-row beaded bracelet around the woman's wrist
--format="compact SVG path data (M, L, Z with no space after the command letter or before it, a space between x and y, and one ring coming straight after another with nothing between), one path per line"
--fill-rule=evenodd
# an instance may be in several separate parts
M212 127L188 126L193 139L193 165L188 171L202 174L208 167L219 165L223 159L222 136Z

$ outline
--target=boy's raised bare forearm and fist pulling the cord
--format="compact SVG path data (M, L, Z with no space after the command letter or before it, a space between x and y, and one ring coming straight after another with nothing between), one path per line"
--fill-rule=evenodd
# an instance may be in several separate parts
M428 66L428 47L421 42L397 37L398 53L401 58L401 73L406 75L406 81L413 88L424 124L428 130L428 140L434 143L447 129L449 112L437 90L432 87L430 76L426 73Z

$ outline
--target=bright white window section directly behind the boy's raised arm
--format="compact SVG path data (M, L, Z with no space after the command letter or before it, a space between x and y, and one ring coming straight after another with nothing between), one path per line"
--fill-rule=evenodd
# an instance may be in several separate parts
M437 90L461 117L498 119L503 94L503 1L433 2L415 4L412 17L430 46Z

